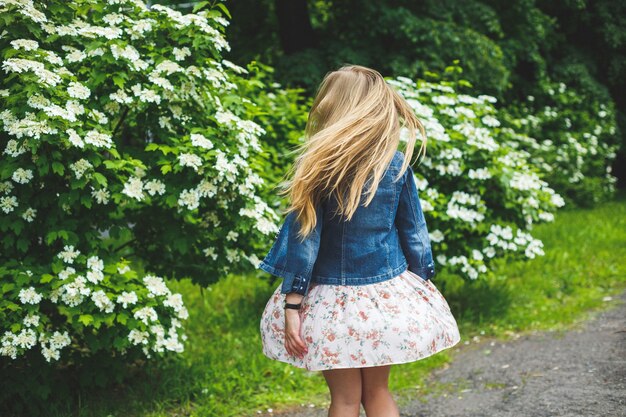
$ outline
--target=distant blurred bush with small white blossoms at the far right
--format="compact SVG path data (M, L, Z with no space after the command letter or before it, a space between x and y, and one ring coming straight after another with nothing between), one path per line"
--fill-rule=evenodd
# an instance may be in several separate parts
M589 206L610 198L619 146L613 102L550 80L538 90L503 112L503 122L521 134L518 146L528 149L566 201Z

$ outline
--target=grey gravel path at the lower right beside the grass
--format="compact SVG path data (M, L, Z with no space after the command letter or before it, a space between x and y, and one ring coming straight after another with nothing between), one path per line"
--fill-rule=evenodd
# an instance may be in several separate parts
M568 331L452 348L450 366L426 382L441 389L403 405L401 416L626 417L626 292L614 301ZM327 411L300 407L268 415L326 417Z

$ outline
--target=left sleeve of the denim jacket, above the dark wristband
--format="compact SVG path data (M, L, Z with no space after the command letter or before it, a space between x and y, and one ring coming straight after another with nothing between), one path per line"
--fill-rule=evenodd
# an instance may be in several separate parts
M298 237L300 224L296 221L296 213L288 213L270 251L257 266L283 278L282 294L295 292L305 296L309 292L313 265L317 259L322 234L324 219L322 211L323 206L318 204L315 228L302 242Z

